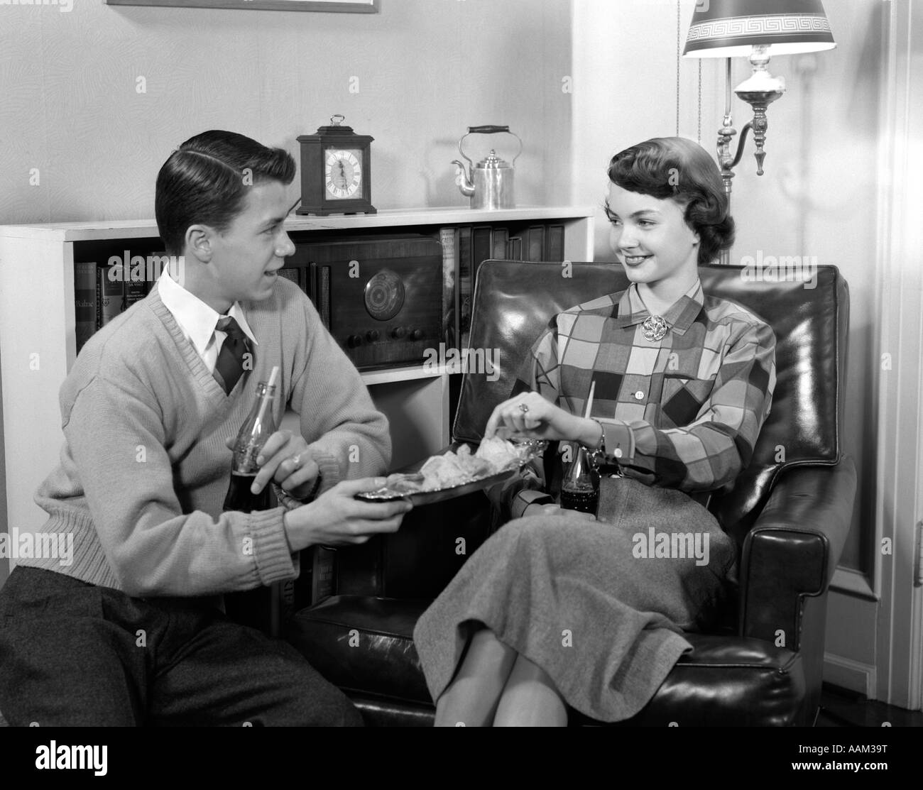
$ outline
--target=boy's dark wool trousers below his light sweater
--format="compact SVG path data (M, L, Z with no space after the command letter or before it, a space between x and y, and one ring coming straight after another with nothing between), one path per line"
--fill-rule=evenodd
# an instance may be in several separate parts
M23 566L0 589L0 712L14 726L362 724L301 653L210 600Z

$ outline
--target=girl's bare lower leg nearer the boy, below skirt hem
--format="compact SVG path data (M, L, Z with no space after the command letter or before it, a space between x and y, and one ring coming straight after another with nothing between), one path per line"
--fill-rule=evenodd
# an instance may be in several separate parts
M436 703L436 726L489 727L517 652L489 628L477 631L458 674Z

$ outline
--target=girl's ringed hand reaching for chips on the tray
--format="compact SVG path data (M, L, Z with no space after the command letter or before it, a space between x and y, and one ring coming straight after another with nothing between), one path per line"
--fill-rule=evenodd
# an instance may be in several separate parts
M577 417L556 406L537 392L523 392L509 401L500 403L487 420L484 437L489 439L498 428L509 428L513 433L533 439L551 441L578 441L582 444L599 444L600 428L593 420ZM588 442L588 439L594 438Z

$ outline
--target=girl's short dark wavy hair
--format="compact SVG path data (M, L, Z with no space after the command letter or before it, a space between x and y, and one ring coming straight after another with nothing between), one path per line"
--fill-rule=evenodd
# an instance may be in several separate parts
M711 263L734 244L721 172L701 145L686 138L653 138L619 151L609 163L613 184L684 207L684 218L699 233L699 264Z

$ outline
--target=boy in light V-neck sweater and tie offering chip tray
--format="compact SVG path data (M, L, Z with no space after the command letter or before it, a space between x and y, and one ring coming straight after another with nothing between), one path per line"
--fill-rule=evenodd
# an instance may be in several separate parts
M0 591L0 712L10 724L362 724L290 645L229 620L222 593L294 579L309 545L398 529L388 421L306 295L279 277L292 157L223 131L157 178L157 224L184 256L97 332L61 389L64 447L36 493L73 562L25 559ZM176 279L174 279L176 278ZM178 280L178 281L177 281ZM270 437L254 489L282 507L222 513L228 447L280 367L300 435Z

